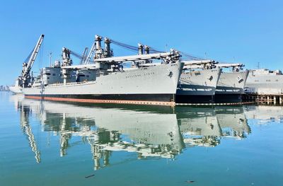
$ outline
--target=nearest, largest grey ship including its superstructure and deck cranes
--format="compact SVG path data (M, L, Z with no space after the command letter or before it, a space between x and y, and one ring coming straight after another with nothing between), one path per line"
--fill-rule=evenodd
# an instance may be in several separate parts
M32 83L23 81L26 98L87 103L175 105L175 93L183 69L180 54L171 52L112 57L111 40L96 35L95 64L72 65L71 50L63 48L62 64L42 69ZM35 48L38 47L37 46ZM144 66L151 60L162 64ZM123 68L122 62L134 62ZM25 71L30 71L28 63Z

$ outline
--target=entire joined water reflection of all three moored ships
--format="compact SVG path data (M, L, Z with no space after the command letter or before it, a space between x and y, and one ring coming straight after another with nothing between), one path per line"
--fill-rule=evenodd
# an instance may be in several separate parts
M74 145L69 144L73 136L90 144L95 169L109 164L112 151L134 152L137 158L175 158L185 146L216 146L223 136L241 139L250 132L243 107L164 109L29 99L16 103L40 116L45 132L59 136L61 156Z

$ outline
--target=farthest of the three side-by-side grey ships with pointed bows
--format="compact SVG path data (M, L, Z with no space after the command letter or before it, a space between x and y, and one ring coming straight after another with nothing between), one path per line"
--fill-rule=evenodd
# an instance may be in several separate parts
M216 103L241 102L248 70L241 71L243 64L216 64L220 68L232 67L231 72L222 71L215 91Z

